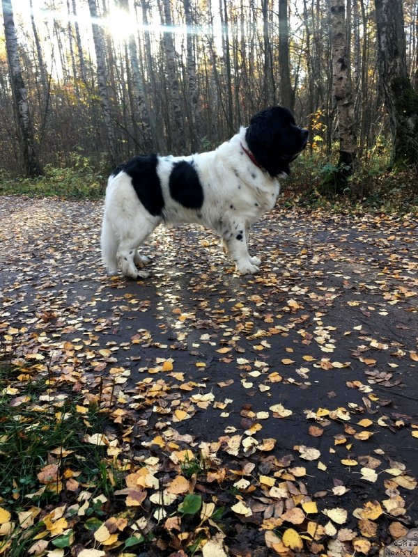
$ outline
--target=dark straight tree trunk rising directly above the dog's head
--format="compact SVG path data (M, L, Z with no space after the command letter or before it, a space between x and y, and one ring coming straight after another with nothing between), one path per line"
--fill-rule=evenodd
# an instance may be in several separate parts
M280 102L292 112L295 109L295 93L291 85L291 68L289 63L289 26L288 1L279 0L279 71Z

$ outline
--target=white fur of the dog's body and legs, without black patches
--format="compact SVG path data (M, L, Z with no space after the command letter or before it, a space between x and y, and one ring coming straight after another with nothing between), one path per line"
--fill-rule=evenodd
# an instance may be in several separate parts
M248 231L251 224L274 207L279 181L251 162L242 146L248 148L244 127L214 151L189 157L158 157L157 174L165 203L162 217L154 217L142 205L127 173L111 175L101 238L102 260L109 274L116 274L120 267L125 276L146 278L148 272L137 269L137 265L142 267L148 261L139 256L137 249L162 222L199 223L214 230L222 237L238 272L257 272L261 261L249 256ZM183 207L171 198L169 191L173 164L192 159L203 188L203 205L199 210ZM239 233L242 240L237 239Z

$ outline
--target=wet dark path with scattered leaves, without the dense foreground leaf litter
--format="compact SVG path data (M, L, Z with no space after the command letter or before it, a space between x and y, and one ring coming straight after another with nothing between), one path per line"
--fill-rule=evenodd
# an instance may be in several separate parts
M207 230L160 228L144 248L150 278L135 282L104 274L101 212L0 198L0 320L20 329L16 356L49 359L81 389L118 377L139 457L173 428L261 473L288 457L353 531L356 508L398 498L372 542L392 521L417 524L416 219L276 210L252 230L254 276L235 274Z

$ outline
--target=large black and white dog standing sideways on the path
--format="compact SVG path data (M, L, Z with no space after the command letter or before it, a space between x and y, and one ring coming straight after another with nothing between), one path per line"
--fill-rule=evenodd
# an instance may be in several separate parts
M249 226L274 207L279 180L306 147L308 130L292 113L270 107L215 151L188 157L134 157L109 177L102 223L102 259L146 278L149 259L137 249L160 223L199 223L215 230L241 274L258 271L248 253Z

